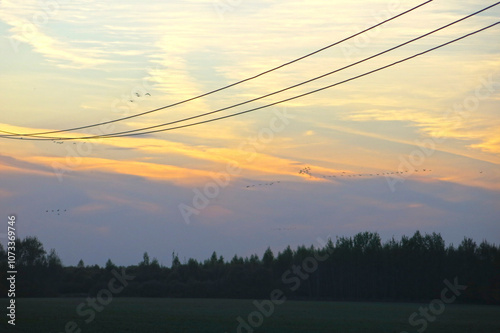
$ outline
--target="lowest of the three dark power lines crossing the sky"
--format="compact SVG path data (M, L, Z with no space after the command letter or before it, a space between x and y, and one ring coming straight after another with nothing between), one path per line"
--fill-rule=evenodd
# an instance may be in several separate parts
M500 21L496 22L496 23L493 23L493 24L491 24L489 26L486 26L484 28L481 28L479 30L473 31L471 33L468 33L466 35L463 35L461 37L458 37L456 39L453 39L453 40L451 40L449 42L446 42L446 43L443 43L441 45L438 45L438 46L435 46L433 48L430 48L430 49L428 49L426 51L414 54L414 55L412 55L410 57L404 58L402 60L395 61L395 62L390 63L388 65L385 65L385 66L379 67L377 69L365 72L363 74L351 77L349 79L346 79L346 80L343 80L343 81L340 81L340 82L337 82L337 83L334 83L334 84L331 84L331 85L328 85L328 86L325 86L325 87L322 87L322 88L318 88L318 89L309 91L307 93L303 93L303 94L296 95L296 96L293 96L293 97L290 97L290 98L287 98L287 99L283 99L283 100L280 100L280 101L277 101L277 102L274 102L274 103L270 103L270 104L266 104L266 105L263 105L263 106L260 106L260 107L256 107L256 108L253 108L253 109L249 109L249 110L237 112L237 113L226 115L226 116L221 116L221 117L218 117L218 118L208 119L208 120L199 121L199 122L196 122L196 123L191 123L191 124L186 124L186 125L180 125L180 126L176 126L176 127L170 127L170 128L161 129L161 130L147 131L147 132L141 132L141 133L132 133L132 134L125 134L125 135L108 134L108 135L99 135L99 136L83 136L83 137L78 137L78 138L59 138L59 140L78 140L78 139L97 139L97 138L112 138L112 137L123 137L123 136L137 136L137 135L144 135L144 134L166 132L166 131L171 131L171 130L175 130L175 129L186 128L186 127L191 127L191 126L206 124L206 123L210 123L210 122L214 122L214 121L218 121L218 120L222 120L222 119L226 119L226 118L235 117L235 116L242 115L242 114L245 114L245 113L257 111L257 110L260 110L260 109L268 108L270 106L274 106L274 105L277 105L277 104L282 104L282 103L289 102L289 101L292 101L292 100L295 100L295 99L298 99L298 98L302 98L304 96L308 96L308 95L311 95L311 94L314 94L314 93L317 93L317 92L320 92L320 91L323 91L323 90L326 90L326 89L329 89L329 88L333 88L335 86L338 86L338 85L341 85L341 84L344 84L344 83L347 83L347 82L350 82L350 81L362 78L364 76L371 75L373 73L379 72L381 70L387 69L389 67L393 67L393 66L395 66L397 64L409 61L409 60L411 60L413 58L417 58L417 57L419 57L421 55L424 55L424 54L427 54L429 52L435 51L435 50L440 49L442 47L445 47L447 45L453 44L453 43L455 43L457 41L460 41L462 39L465 39L467 37L470 37L472 35L475 35L477 33L485 31L487 29L490 29L490 28L492 28L492 27L494 27L494 26L496 26L498 24L500 24ZM11 137L11 139L23 139L23 138L22 137L21 138L12 138ZM25 138L25 139L26 140L51 140L51 139L47 139L47 138Z

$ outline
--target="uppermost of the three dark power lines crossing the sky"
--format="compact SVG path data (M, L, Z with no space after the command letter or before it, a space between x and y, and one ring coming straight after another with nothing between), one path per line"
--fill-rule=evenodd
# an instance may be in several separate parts
M389 19L387 19L387 20L385 20L385 21L382 21L382 22L380 22L380 23L377 23L377 24L375 24L375 25L373 25L373 26L371 26L371 27L369 27L369 28L367 28L367 29L365 29L365 30L362 30L362 31L360 31L360 32L358 32L358 33L356 33L356 34L354 34L354 35L351 35L351 36L349 36L349 37L346 37L346 38L344 38L344 39L342 39L342 40L340 40L340 41L338 41L338 42L335 42L335 43L333 43L333 44L327 45L327 46L325 46L325 47L323 47L323 48L321 48L321 49L318 49L318 50L316 50L316 51L310 52L310 53L308 53L308 54L306 54L306 55L304 55L304 56L301 56L301 57L299 57L299 58L296 58L296 59L294 59L294 60L291 60L291 61L289 61L289 62L286 62L286 63L284 63L284 64L282 64L282 65L279 65L279 66L277 66L277 67L271 68L271 69L269 69L269 70L266 70L266 71L264 71L264 72L262 72L262 73L259 73L259 74L257 74L257 75L254 75L254 76L248 77L248 78L246 78L246 79L243 79L243 80L240 80L240 81L234 82L234 83L232 83L232 84L229 84L229 85L223 86L223 87L221 87L221 88L214 89L214 90L211 90L211 91L209 91L209 92L203 93L203 94L201 94L201 95L197 95L197 96L195 96L195 97L191 97L191 98L188 98L188 99L182 100L182 101L180 101L180 102L176 102L176 103L173 103L173 104L169 104L169 105L166 105L166 106L162 106L162 107L159 107L159 108L156 108L156 109L153 109L153 110L149 110L149 111L145 111L145 112L142 112L142 113L138 113L138 114L135 114L135 115L132 115L132 116L127 116L127 117L123 117L123 118L117 118L117 119L114 119L114 120L109 120L109 121L105 121L105 122L99 122L99 123L95 123L95 124L91 124L91 125L86 125L86 126L80 126L80 127L68 128L68 129L64 129L64 130L47 131L47 132L38 132L38 133L25 133L25 134L21 134L21 133L11 133L11 132L6 132L6 131L0 131L0 132L2 132L2 133L9 133L9 134L14 135L14 136L37 136L37 135L44 135L44 134L55 134L55 133L71 132L71 131L76 131L76 130L81 130L81 129L91 128L91 127L96 127L96 126L101 126L101 125L111 124L111 123L115 123L115 122L118 122L118 121L123 121L123 120L127 120L127 119L132 119L132 118L135 118L135 117L144 116L144 115L149 114L149 113L153 113L153 112L157 112L157 111L160 111L160 110L164 110L164 109L167 109L167 108L171 108L171 107L174 107L174 106L177 106L177 105L181 105L181 104L184 104L184 103L187 103L187 102L191 102L191 101L193 101L193 100L196 100L196 99L199 99L199 98L202 98L202 97L205 97L205 96L208 96L208 95L214 94L214 93L216 93L216 92L219 92L219 91L222 91L222 90L225 90L225 89L228 89L228 88L234 87L234 86L239 85L239 84L241 84L241 83L248 82L248 81L250 81L250 80L256 79L256 78L258 78L258 77L260 77L260 76L263 76L263 75L265 75L265 74L271 73L271 72L276 71L276 70L278 70L278 69L280 69L280 68L283 68L283 67L285 67L285 66L288 66L288 65L291 65L291 64L293 64L293 63L296 63L296 62L298 62L298 61L300 61L300 60L303 60L303 59L305 59L305 58L308 58L308 57L310 57L310 56L313 56L313 55L315 55L315 54L317 54L317 53L320 53L320 52L322 52L322 51L324 51L324 50L327 50L327 49L329 49L329 48L331 48L331 47L333 47L333 46L339 45L339 44L341 44L341 43L343 43L343 42L345 42L345 41L348 41L348 40L350 40L350 39L352 39L352 38L354 38L354 37L357 37L357 36L359 36L359 35L361 35L361 34L363 34L363 33L365 33L365 32L368 32L368 31L370 31L370 30L373 30L373 29L375 29L375 28L377 28L377 27L379 27L379 26L381 26L381 25L383 25L383 24L385 24L385 23L387 23L387 22L390 22L390 21L392 21L392 20L395 20L395 19L396 19L396 18L398 18L398 17L401 17L401 16L403 16L403 15L406 15L406 14L408 14L408 13L410 13L410 12L412 12L412 11L414 11L414 10L416 10L416 9L418 9L418 8L420 8L420 7L422 7L422 6L424 6L424 5L427 5L427 4L431 3L432 1L433 1L433 0L429 0L429 1L426 1L426 2L424 2L424 3L421 3L420 5L417 5L417 6L413 7L413 8L411 8L411 9L409 9L409 10L407 10L407 11L404 11L404 12L402 12L402 13L400 13L400 14L396 15L396 16L393 16L393 17L391 17L391 18L389 18ZM5 137L5 136L0 136L0 137Z

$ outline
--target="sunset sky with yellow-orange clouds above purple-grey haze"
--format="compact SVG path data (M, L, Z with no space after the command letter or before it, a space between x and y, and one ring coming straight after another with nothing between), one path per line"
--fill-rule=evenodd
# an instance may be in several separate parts
M352 0L0 3L0 242L36 236L64 265L261 256L336 236L500 241L500 26L301 98L184 128L493 4ZM498 21L500 6L299 87L348 80ZM38 137L32 134L101 124ZM6 133L7 132L7 133ZM45 140L43 136L49 137ZM51 139L52 138L52 139ZM66 140L67 138L81 138Z

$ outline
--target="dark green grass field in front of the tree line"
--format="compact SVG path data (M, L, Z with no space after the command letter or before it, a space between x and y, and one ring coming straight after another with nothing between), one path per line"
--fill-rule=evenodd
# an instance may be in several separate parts
M162 333L233 333L238 332L237 317L248 319L256 311L251 300L219 299L155 299L115 298L100 312L76 313L85 302L80 298L17 299L16 326L7 324L7 299L0 299L2 317L0 332L162 332ZM276 305L269 317L262 316L254 332L417 332L422 324L412 327L408 318L419 307L414 303L351 303L287 301ZM86 323L94 312L95 318ZM253 318L254 323L259 317ZM422 320L419 316L416 320ZM73 321L78 327L68 326ZM249 333L251 330L242 329ZM500 307L476 305L447 305L425 332L494 333L500 332Z

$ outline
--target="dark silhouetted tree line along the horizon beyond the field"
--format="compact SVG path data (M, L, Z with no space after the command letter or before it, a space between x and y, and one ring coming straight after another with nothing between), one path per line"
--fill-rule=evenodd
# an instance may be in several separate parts
M445 279L467 286L457 302L500 304L500 247L464 238L445 245L440 234L382 242L373 232L329 239L324 246L290 246L262 257L179 260L170 267L144 253L137 265L63 266L54 250L36 237L16 241L18 297L91 296L107 288L113 271L133 276L118 296L265 299L282 290L287 299L343 301L429 301L439 298ZM7 295L7 251L0 244L0 294Z

